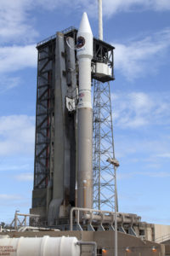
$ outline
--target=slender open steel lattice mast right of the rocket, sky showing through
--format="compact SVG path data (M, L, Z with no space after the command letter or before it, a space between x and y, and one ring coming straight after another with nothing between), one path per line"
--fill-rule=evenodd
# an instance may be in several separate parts
M94 209L115 209L115 159L110 83L94 80Z

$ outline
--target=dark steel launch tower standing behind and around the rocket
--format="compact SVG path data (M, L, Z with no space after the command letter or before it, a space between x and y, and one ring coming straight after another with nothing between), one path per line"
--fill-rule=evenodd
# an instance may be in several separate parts
M75 45L77 29L74 27L57 32L37 44L36 142L31 213L40 215L41 225L68 224L71 207L78 206L77 145L80 133L77 132L77 105L80 102L80 81ZM114 79L113 49L111 44L93 38L93 84L98 81L107 84ZM85 181L84 191L87 191L87 185ZM93 190L92 184L90 186ZM81 207L86 206L86 202Z

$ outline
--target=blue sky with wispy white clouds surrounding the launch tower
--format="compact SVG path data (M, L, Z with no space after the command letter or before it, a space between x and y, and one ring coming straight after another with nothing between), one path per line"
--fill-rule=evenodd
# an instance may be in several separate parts
M120 212L170 224L170 1L103 0L104 38L115 50L111 83ZM0 2L0 221L29 212L34 161L37 42L88 12L98 36L97 1Z

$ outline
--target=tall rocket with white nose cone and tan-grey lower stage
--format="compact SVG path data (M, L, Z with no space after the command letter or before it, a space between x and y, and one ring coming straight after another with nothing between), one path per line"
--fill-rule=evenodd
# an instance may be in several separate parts
M79 102L77 106L77 206L93 207L93 110L91 102L91 60L93 33L88 15L82 15L77 33Z

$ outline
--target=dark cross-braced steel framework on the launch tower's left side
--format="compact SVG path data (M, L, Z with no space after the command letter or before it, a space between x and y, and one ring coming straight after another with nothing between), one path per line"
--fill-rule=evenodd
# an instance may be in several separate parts
M37 113L34 189L45 189L50 178L50 157L54 115L54 52L55 42L38 48L37 59Z

